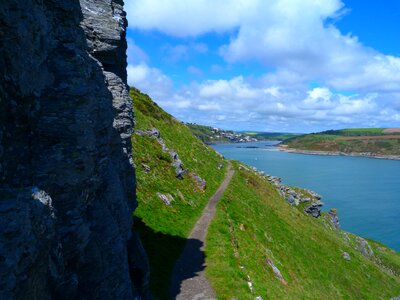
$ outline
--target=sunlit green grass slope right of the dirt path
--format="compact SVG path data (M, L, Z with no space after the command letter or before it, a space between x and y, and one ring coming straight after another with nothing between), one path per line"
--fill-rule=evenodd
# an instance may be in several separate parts
M346 238L323 218L314 219L291 207L264 178L237 166L207 239L206 272L219 299L390 299L400 295L400 278L388 271L398 272L398 253L371 242L376 258L364 258L355 249L353 235ZM350 261L343 259L343 251L350 254ZM266 259L279 268L287 285L274 276Z

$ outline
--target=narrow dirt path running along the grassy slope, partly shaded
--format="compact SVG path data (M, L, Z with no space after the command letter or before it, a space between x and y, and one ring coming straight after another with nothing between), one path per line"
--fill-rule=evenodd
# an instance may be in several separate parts
M171 299L205 300L216 299L215 292L205 277L205 240L208 226L214 218L216 205L228 186L233 169L228 172L218 190L210 198L200 219L197 221L186 242L185 248L177 260L171 280Z

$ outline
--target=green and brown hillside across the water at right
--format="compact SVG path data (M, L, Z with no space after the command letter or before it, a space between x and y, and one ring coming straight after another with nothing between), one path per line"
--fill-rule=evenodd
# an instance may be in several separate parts
M307 151L400 155L400 132L384 128L328 130L290 138L282 145Z

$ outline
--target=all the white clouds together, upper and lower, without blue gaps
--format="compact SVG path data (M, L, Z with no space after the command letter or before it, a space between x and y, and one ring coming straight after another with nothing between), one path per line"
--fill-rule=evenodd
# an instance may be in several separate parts
M343 35L334 25L346 12L339 0L132 0L126 8L139 30L182 40L228 32L230 41L219 49L227 64L265 66L259 78L243 74L178 89L145 60L130 66L130 83L178 118L291 131L399 122L400 59ZM193 47L180 46L171 51Z

